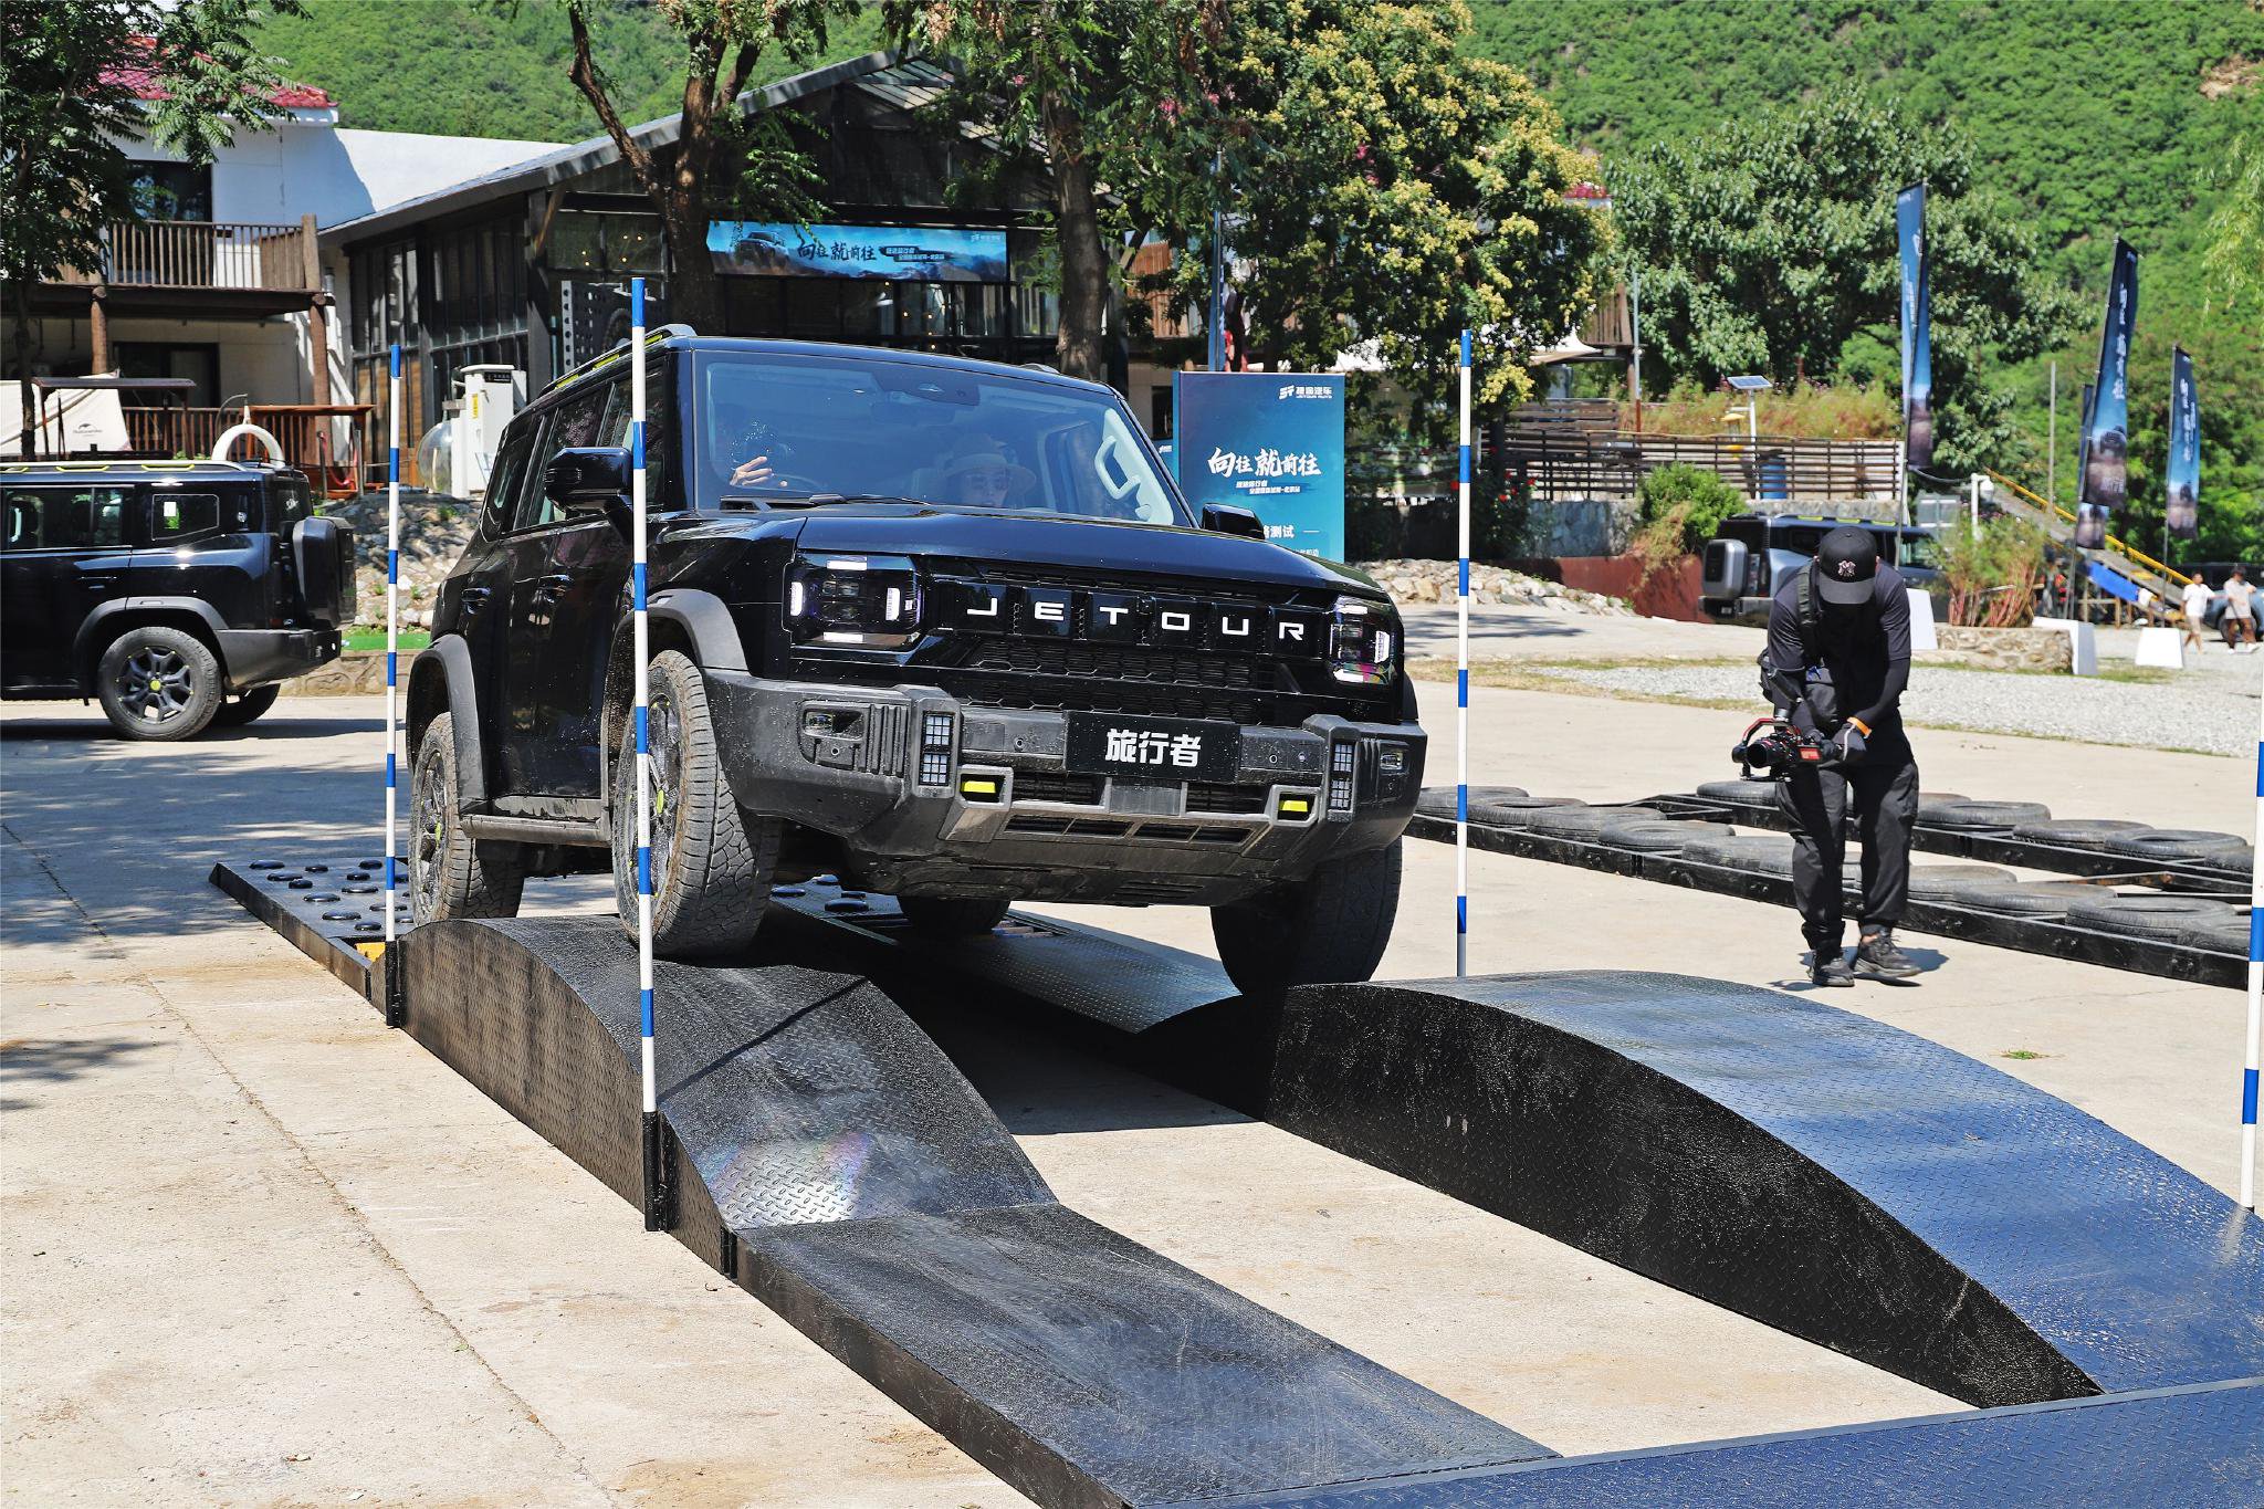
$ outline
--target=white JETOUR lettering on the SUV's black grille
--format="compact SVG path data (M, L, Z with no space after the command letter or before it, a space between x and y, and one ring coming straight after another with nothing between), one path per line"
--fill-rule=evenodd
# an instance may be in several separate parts
M955 581L937 593L940 629L1082 638L1107 645L1204 647L1286 658L1327 652L1329 615L1247 602Z

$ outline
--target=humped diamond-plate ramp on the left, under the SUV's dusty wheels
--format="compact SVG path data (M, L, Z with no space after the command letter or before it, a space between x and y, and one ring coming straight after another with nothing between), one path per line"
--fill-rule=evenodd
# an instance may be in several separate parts
M614 919L428 923L408 1029L638 1199ZM657 973L675 1235L1048 1504L1175 1504L1549 1457L1060 1206L872 984Z

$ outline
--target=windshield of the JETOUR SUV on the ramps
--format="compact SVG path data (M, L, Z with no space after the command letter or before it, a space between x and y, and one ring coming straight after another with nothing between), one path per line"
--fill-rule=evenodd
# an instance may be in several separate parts
M1114 394L887 357L704 351L695 373L695 509L833 495L1189 523Z

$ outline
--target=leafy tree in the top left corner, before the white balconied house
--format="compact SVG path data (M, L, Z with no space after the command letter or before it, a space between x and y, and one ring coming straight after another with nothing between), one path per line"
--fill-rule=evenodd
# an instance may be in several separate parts
M102 265L104 228L134 219L125 143L149 136L206 165L281 111L281 84L251 38L294 0L70 0L0 7L0 271L14 312L23 446L32 423L32 285ZM161 97L120 77L140 68Z

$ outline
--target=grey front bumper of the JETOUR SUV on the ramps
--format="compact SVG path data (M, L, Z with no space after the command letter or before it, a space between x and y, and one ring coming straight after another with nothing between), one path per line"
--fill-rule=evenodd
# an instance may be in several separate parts
M706 688L738 803L838 837L847 878L892 894L1218 905L1390 844L1422 790L1415 724L1243 726L1232 781L1132 781L1071 774L1064 713L715 670Z

